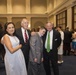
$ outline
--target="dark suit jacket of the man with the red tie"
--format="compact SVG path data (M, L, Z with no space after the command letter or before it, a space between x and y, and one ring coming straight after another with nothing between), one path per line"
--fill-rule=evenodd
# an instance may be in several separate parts
M27 32L28 32L28 35L29 35L29 39L28 39L28 41L25 43L25 42L24 42L24 39L23 39L23 36L22 36L21 28L19 28L19 29L16 30L16 36L19 38L20 44L22 44L22 48L21 48L21 49L22 49L22 51L23 51L24 56L25 56L25 55L28 55L29 50L30 50L30 45L29 45L30 31L27 30Z

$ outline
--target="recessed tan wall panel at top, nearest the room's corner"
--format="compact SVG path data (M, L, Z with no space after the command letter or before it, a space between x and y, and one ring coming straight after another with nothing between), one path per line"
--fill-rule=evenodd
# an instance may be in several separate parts
M31 1L31 13L33 14L45 14L47 11L46 0L30 0Z

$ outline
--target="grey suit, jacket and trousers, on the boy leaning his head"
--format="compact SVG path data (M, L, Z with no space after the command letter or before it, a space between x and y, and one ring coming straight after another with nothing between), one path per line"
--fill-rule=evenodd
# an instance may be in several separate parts
M37 58L37 62L34 59ZM45 75L43 63L43 42L38 33L31 36L28 75Z

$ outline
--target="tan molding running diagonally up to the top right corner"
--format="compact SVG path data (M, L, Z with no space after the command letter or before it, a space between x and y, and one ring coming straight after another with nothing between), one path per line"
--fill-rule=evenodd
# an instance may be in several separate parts
M48 16L56 15L76 4L76 0L66 0L48 13Z

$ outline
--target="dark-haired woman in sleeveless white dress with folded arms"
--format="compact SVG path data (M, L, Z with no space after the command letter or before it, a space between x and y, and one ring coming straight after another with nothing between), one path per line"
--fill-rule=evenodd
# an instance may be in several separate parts
M15 36L15 25L8 22L4 26L5 35L1 42L5 48L5 69L7 75L27 75L24 56L21 50L22 44Z

